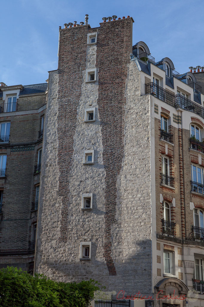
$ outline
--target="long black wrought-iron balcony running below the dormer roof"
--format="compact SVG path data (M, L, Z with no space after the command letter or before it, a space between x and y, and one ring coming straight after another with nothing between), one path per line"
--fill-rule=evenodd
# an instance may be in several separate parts
M190 112L194 112L200 115L204 119L204 108L197 103L185 98L184 96L177 94L174 95L169 91L164 90L162 87L150 82L145 84L146 94L153 95L154 97L168 103L172 107L181 108Z

